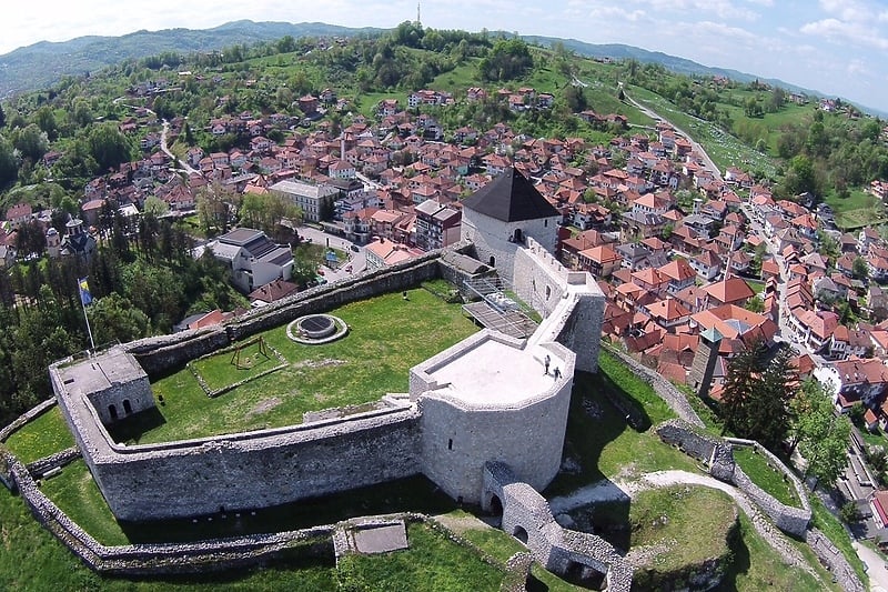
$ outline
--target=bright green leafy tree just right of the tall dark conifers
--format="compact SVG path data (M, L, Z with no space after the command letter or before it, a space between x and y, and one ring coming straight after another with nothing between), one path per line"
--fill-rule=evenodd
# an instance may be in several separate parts
M791 403L793 444L808 465L805 475L833 486L848 464L848 439L851 423L837 415L833 393L817 380L807 380Z

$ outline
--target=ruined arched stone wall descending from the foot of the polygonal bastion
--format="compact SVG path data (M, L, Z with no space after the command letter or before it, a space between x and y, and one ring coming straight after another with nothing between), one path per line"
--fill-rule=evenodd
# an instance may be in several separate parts
M536 561L555 573L567 573L579 564L605 575L607 590L628 592L633 570L616 550L595 534L564 529L555 522L548 502L527 483L516 481L508 466L484 468L482 508L491 511L498 500L502 529L522 541Z

